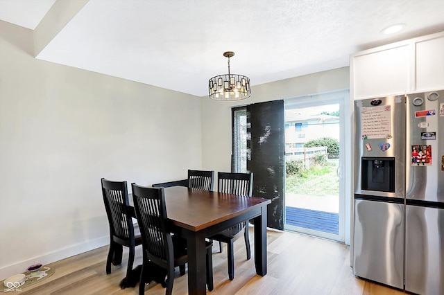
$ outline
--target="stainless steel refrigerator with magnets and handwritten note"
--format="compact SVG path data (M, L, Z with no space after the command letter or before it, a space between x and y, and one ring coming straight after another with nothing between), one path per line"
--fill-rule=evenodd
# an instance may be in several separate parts
M355 101L353 273L444 294L444 91Z

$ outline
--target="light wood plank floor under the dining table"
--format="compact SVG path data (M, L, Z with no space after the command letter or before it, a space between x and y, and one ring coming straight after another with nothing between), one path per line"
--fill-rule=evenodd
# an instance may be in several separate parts
M228 279L227 251L213 247L214 290L209 294L403 294L396 289L356 278L349 266L349 249L344 244L312 238L297 233L268 231L268 274L255 274L253 229L250 228L252 258L246 260L241 238L234 243L234 280ZM102 247L65 260L51 263L56 273L42 283L22 289L19 294L138 294L135 288L120 289L125 276L128 252L123 252L121 266L112 266L105 274L108 247ZM135 265L142 263L137 247ZM160 284L146 285L146 294L164 294ZM187 294L187 274L176 270L173 294Z

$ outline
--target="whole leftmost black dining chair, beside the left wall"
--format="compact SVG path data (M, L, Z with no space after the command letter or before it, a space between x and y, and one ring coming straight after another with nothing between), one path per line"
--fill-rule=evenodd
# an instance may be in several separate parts
M106 274L111 274L111 263L120 265L122 260L122 247L128 247L128 266L126 277L133 269L135 247L142 244L139 226L133 224L134 212L128 199L126 181L110 181L101 179L103 202L105 204L108 223L110 224L110 250L106 259Z

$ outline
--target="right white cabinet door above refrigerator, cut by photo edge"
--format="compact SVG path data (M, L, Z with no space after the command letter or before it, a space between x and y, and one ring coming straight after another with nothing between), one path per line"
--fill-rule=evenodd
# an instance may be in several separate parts
M444 35L415 45L416 91L444 89Z

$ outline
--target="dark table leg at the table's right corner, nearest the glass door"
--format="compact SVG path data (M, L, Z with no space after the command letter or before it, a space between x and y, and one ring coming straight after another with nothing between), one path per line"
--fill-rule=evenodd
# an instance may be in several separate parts
M262 214L255 217L255 266L256 274L266 275L266 206Z

